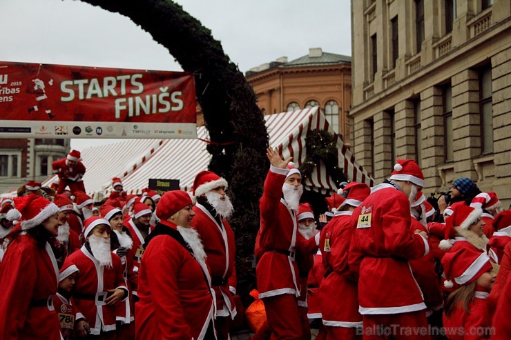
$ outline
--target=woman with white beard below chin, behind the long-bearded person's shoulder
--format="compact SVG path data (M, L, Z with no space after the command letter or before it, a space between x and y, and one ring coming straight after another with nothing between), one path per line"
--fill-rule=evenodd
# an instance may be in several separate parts
M122 276L129 290L128 299L117 303L117 339L134 339L135 322L133 305L133 289L137 290L137 274L133 272L133 257L127 256L133 247L131 233L122 225L122 211L113 206L101 206L101 215L110 222L113 233L110 233L110 246L122 263Z

